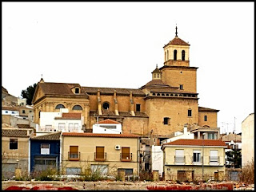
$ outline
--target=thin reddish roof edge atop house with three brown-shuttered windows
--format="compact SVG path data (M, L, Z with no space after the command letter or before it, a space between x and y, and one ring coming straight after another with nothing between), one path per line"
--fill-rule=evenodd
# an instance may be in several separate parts
M139 135L134 134L102 134L102 133L77 133L77 132L64 132L62 136L70 137L119 137L119 138L138 138Z

